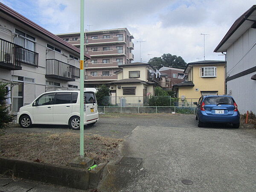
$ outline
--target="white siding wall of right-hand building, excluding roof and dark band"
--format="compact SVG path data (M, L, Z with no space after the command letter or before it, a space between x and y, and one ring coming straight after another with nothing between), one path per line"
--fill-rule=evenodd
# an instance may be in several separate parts
M256 29L248 29L227 49L227 76L233 76L256 66ZM250 73L246 76L227 81L227 93L236 100L239 111L256 113L256 81L251 80Z

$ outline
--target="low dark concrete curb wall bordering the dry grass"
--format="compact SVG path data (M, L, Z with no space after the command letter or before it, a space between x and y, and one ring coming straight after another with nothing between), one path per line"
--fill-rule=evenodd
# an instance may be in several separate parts
M77 189L96 188L106 163L95 170L28 162L0 157L0 174L11 172L15 177L37 180Z

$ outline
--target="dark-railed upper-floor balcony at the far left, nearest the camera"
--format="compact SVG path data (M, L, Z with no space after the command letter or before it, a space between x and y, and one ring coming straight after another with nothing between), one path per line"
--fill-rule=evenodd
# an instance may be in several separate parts
M38 67L38 53L0 38L0 68L21 70L21 64Z

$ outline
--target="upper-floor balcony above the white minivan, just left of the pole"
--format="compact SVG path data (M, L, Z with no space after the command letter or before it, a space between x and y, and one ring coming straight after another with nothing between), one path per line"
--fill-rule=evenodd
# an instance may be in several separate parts
M75 81L75 77L80 77L80 69L56 59L47 59L45 77L62 81Z

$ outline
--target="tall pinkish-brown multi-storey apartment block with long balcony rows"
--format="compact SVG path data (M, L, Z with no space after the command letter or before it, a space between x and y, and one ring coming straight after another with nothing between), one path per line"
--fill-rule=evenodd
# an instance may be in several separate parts
M67 43L80 47L80 33L57 34ZM134 60L133 35L128 29L107 29L85 32L85 50L91 56L85 63L86 87L96 87L117 80L118 66Z

